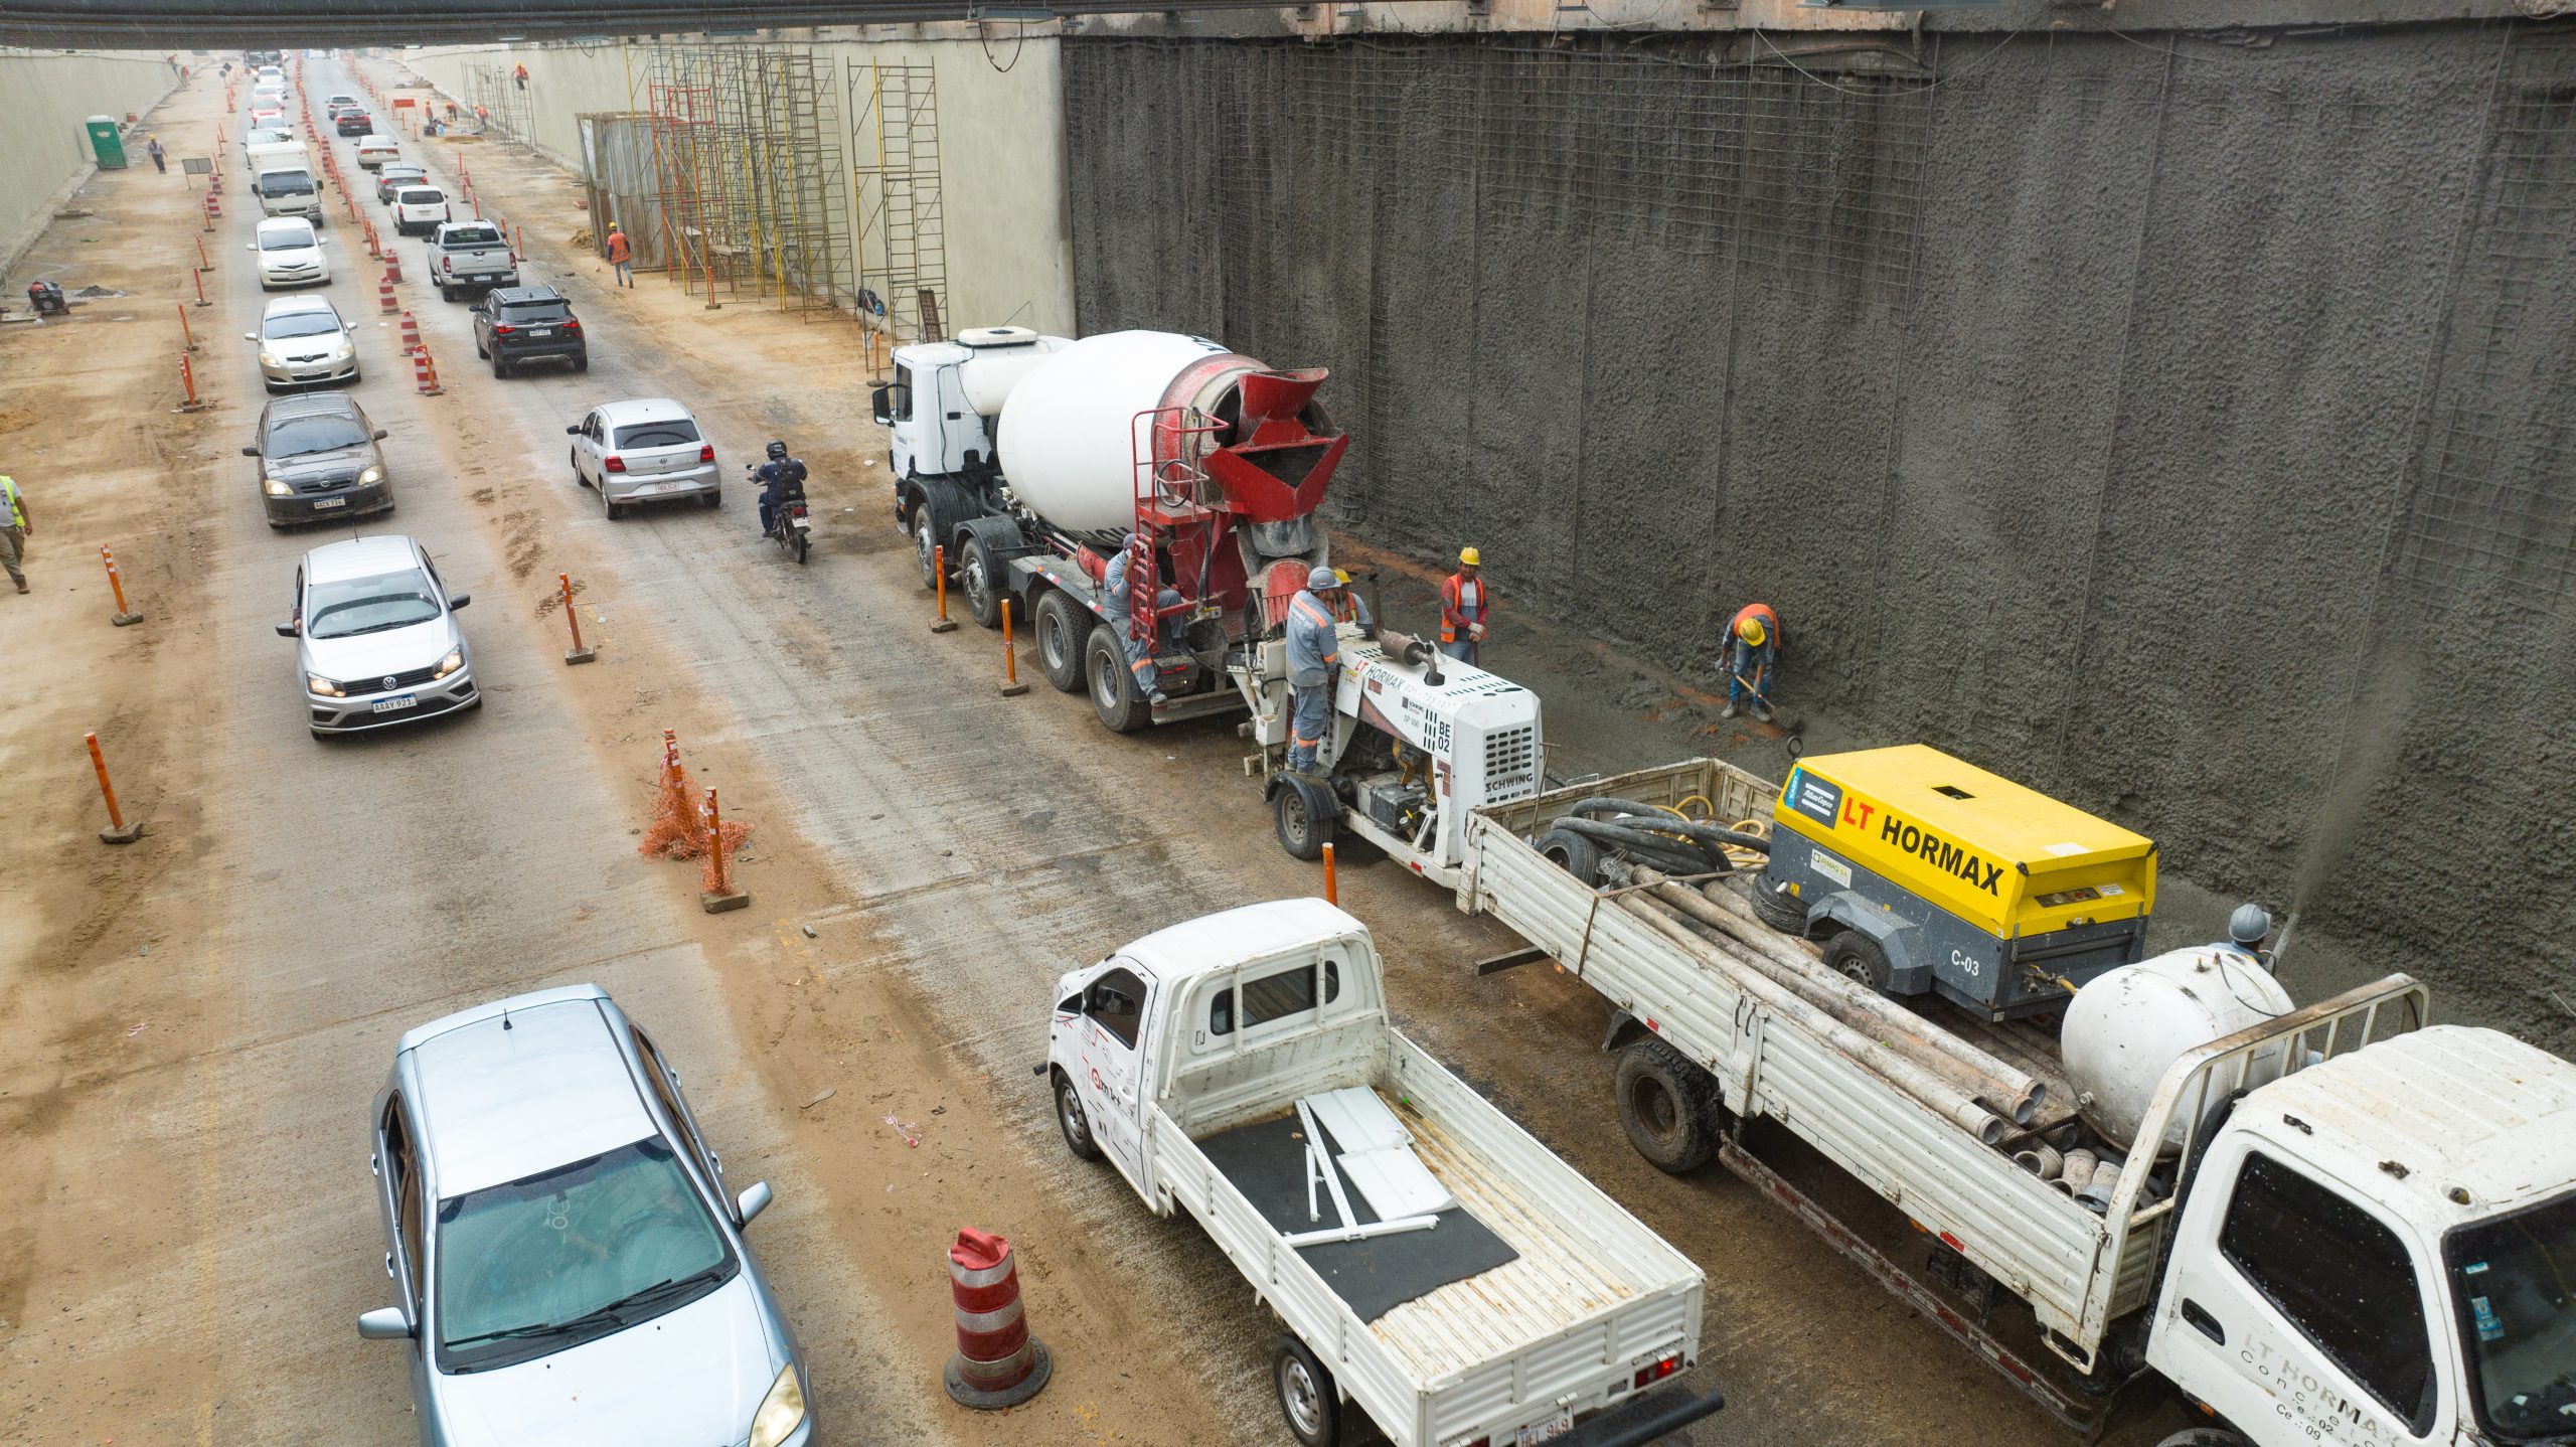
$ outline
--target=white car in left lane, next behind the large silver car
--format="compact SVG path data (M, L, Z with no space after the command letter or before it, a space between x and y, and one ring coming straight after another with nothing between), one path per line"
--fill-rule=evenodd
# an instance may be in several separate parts
M304 554L296 566L296 680L317 739L482 708L474 649L420 543L402 536L350 538Z

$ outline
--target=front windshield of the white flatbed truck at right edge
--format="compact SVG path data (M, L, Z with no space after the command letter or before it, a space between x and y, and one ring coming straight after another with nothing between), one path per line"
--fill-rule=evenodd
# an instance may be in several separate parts
M2504 1442L2566 1442L2576 1432L2576 1195L2463 1226L2442 1254L2478 1424Z

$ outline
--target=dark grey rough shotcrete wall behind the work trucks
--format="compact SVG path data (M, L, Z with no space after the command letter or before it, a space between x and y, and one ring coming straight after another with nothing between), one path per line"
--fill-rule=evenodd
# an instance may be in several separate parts
M1373 541L1700 672L1762 597L1801 703L2566 1043L2576 31L2264 39L1069 39L1077 317L1332 366Z

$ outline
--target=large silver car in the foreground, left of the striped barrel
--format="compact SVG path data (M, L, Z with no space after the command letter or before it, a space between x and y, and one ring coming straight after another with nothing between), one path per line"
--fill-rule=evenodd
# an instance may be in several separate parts
M806 1362L680 1076L600 986L407 1032L376 1202L425 1447L806 1447Z

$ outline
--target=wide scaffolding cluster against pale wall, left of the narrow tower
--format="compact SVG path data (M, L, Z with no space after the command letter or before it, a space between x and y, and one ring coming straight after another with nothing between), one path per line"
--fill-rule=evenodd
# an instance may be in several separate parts
M829 70L806 44L652 49L654 252L690 296L858 309L842 95Z

